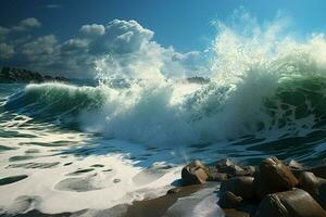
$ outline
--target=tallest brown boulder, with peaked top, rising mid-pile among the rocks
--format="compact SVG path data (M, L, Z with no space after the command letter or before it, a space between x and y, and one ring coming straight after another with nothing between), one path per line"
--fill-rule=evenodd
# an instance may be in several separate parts
M261 163L260 180L272 193L287 191L298 184L291 170L276 157L268 157Z

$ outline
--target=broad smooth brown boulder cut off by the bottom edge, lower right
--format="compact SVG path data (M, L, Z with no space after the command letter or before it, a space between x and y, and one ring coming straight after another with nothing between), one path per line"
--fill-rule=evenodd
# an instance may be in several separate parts
M268 194L259 205L255 217L325 217L326 212L305 191Z

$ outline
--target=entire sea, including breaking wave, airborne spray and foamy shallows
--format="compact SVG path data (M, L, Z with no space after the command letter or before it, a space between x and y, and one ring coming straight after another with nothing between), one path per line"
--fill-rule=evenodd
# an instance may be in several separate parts
M0 174L11 179L0 182L0 212L92 212L154 197L193 158L319 161L325 36L253 29L220 24L208 82L170 77L162 64L121 67L111 56L96 62L92 85L1 85Z

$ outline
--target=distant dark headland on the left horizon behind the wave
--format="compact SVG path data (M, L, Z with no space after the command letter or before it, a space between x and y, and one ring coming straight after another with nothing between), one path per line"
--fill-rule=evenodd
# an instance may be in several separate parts
M65 77L52 77L49 75L43 76L37 72L15 67L2 67L0 72L0 84L46 81L68 81L68 79Z

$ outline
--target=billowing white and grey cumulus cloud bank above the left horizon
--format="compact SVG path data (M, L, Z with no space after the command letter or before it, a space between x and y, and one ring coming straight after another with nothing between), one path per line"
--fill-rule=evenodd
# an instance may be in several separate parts
M16 26L32 29L41 24L36 18L26 18ZM205 69L201 52L179 53L172 47L164 48L153 40L152 30L136 21L83 25L74 38L65 41L47 35L13 42L5 37L17 33L13 29L16 27L0 28L0 39L1 34L4 38L0 41L0 64L68 77L95 76L95 63L99 62L105 65L104 73L142 78L198 75Z

